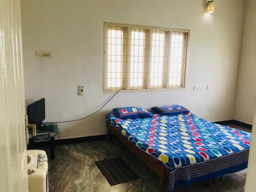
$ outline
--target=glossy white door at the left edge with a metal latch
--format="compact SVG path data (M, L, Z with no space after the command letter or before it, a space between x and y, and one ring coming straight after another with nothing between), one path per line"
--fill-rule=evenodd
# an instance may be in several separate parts
M0 192L28 191L20 0L0 0Z

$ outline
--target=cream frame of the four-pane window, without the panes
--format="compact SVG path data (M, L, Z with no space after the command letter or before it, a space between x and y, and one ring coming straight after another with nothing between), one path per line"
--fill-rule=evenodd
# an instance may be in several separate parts
M126 75L125 75L125 82L124 82L124 90L131 91L131 92L143 92L143 91L163 91L163 90L185 90L186 89L186 74L187 74L187 58L188 58L188 50L189 50L189 37L190 37L190 30L188 29L176 29L176 28L165 28L165 27L153 27L153 26L143 26L143 25L130 25L130 24L119 24L119 23L110 23L104 22L103 23L103 92L104 93L111 93L116 92L117 90L106 90L106 26L113 26L113 27L124 27L126 28ZM147 62L146 62L146 85L145 88L142 89L129 89L130 88L130 33L131 28L139 28L139 29L147 29L148 30L148 44L147 44ZM167 49L167 62L165 67L165 79L164 86L162 88L150 88L150 72L151 72L151 49L152 49L152 31L153 30L162 30L168 31L168 49ZM169 79L169 70L170 70L170 45L172 43L172 32L183 32L187 33L186 35L186 54L185 54L185 63L184 63L184 82L183 87L179 88L169 88L168 79Z

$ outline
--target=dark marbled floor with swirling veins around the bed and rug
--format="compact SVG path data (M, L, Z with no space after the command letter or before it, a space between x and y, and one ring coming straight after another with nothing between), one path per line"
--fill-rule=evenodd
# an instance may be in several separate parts
M229 125L250 132L237 125ZM49 148L44 147L49 154ZM158 177L133 155L116 138L108 143L106 140L57 145L54 160L49 160L49 191L90 191L90 192L136 192L158 191ZM49 155L48 155L49 156ZM122 157L122 159L140 176L140 179L115 186L108 181L96 167L95 161L106 158ZM177 186L175 192L238 192L244 191L246 169L241 172L219 178L207 187L205 183L191 186Z

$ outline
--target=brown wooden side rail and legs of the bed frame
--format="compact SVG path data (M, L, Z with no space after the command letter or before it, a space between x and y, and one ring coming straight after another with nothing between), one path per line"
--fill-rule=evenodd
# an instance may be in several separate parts
M148 168L150 168L159 177L159 191L167 191L167 167L159 160L153 158L151 155L143 152L137 146L133 145L129 140L123 137L120 132L118 132L115 127L113 127L108 121L106 122L106 127L108 128L107 140L110 142L111 134L115 134L116 137L132 151L143 163L145 163Z

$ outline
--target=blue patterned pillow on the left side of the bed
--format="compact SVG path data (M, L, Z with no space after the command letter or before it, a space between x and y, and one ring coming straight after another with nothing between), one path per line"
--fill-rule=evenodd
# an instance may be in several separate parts
M138 106L130 106L128 108L113 109L115 115L120 119L133 119L137 117L152 117L153 114L144 108Z

